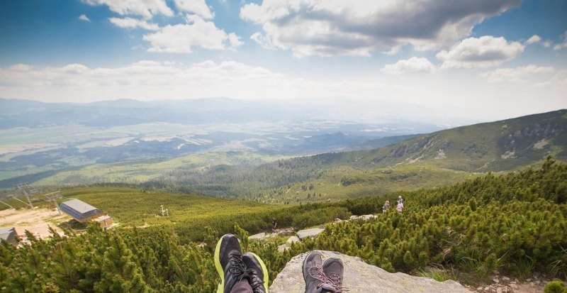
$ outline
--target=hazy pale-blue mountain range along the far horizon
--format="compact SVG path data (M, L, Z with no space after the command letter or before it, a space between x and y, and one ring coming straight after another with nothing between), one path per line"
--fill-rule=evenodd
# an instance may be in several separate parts
M364 104L368 103L368 104ZM239 100L223 97L186 100L136 101L118 99L88 104L42 103L0 99L0 129L15 127L82 125L129 126L141 123L246 123L252 121L335 121L392 126L386 133L424 133L438 126L430 118L417 117L418 106L388 104L386 101L354 102L349 99ZM399 110L399 111L398 111ZM392 113L397 113L393 115ZM451 120L454 123L454 120ZM449 123L444 119L441 124ZM461 122L456 122L461 124ZM402 131L399 131L402 129ZM398 131L396 131L398 130ZM384 135L387 136L387 135Z

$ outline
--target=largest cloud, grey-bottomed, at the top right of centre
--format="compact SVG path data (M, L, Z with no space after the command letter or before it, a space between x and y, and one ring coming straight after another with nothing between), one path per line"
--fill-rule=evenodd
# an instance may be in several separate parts
M473 26L520 0L264 0L246 4L240 17L262 26L250 38L266 48L307 55L370 55L405 44L445 48ZM395 50L393 51L395 52Z

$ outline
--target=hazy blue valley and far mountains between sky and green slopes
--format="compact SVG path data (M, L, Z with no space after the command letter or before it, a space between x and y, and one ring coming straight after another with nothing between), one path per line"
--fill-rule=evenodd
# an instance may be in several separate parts
M184 167L175 161L190 155L237 152L270 157L264 160L269 162L377 148L443 129L402 116L361 120L349 111L343 111L348 117L339 116L332 108L347 109L348 101L337 103L217 98L74 104L0 98L0 189L26 182L146 182L164 175L167 170L160 167L169 160L169 170ZM144 165L143 174L121 168L128 165Z

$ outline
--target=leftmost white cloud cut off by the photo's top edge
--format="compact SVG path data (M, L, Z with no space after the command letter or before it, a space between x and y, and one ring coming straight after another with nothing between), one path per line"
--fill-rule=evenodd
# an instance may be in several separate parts
M124 15L139 15L150 19L157 14L173 16L165 0L83 0L84 3L96 6L106 5L111 11Z

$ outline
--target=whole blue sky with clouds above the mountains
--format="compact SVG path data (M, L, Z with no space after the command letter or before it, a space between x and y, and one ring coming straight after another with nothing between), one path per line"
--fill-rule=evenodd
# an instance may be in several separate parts
M567 108L564 0L6 0L0 97ZM379 103L378 103L379 104Z

